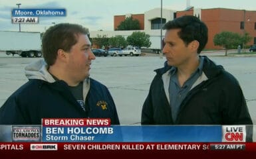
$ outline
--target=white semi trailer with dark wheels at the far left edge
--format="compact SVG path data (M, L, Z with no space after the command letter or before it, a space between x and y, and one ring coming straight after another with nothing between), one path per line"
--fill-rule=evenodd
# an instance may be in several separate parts
M0 31L0 51L7 55L41 57L41 34L40 32Z

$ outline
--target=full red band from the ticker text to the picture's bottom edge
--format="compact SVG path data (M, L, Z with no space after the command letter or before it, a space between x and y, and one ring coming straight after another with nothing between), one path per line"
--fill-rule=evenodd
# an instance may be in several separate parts
M249 158L256 155L256 142L249 143L173 143L173 142L90 142L90 143L45 143L1 142L1 158L74 158L102 156L103 158L136 156L160 158ZM86 154L86 156L84 156ZM170 156L171 157L171 156Z

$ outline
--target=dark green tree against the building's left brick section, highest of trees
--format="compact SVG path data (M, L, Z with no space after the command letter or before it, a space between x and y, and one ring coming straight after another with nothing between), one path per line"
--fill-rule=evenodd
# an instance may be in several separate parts
M140 22L138 19L127 17L117 26L116 30L140 30Z

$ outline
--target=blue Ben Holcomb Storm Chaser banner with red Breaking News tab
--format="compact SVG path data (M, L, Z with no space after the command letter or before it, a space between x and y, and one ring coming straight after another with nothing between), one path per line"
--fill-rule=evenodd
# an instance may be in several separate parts
M43 119L0 125L0 142L246 142L253 125L110 125L110 119ZM251 139L251 140L250 140Z

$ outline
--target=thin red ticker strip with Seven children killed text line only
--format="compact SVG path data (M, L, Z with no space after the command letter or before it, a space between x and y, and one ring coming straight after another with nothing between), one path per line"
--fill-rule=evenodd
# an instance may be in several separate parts
M256 142L246 143L202 143L202 142L97 142L97 143L29 143L29 142L0 142L1 151L27 150L161 150L161 151L256 151Z

